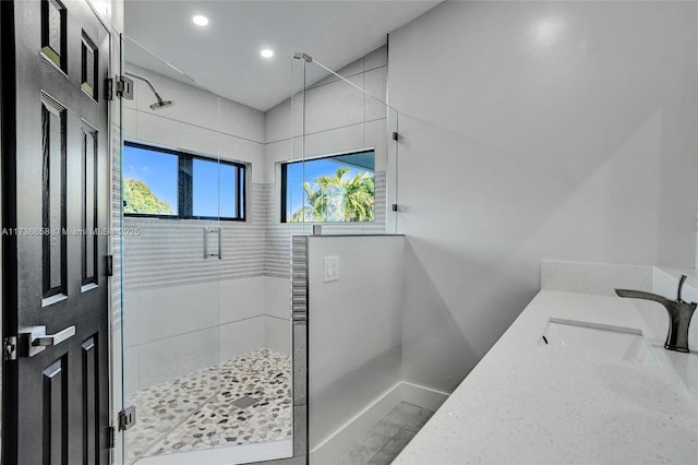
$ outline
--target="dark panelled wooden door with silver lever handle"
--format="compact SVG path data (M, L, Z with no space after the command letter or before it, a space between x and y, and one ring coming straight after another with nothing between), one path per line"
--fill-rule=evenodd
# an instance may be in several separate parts
M2 3L3 464L105 464L110 36L84 0Z

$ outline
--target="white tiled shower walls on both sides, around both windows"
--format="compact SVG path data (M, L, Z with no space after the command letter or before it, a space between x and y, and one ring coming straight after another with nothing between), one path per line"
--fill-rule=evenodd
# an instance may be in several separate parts
M147 107L152 94L136 81L135 100L124 100L127 139L249 163L249 184L246 222L220 223L221 260L203 259L203 228L218 226L215 222L124 218L124 229L140 231L123 238L127 392L260 347L289 353L290 237L306 231L279 222L278 162L292 158L290 99L263 114L128 68L152 79L177 105L153 112ZM340 74L385 96L386 48ZM294 110L299 102L294 99ZM376 153L375 222L325 225L324 230L385 233L385 106L334 78L306 91L305 102L308 156L365 147Z

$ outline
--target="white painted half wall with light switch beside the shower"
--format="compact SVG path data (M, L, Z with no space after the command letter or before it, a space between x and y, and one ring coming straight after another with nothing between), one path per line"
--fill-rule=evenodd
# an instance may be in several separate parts
M401 236L309 240L310 449L400 381ZM324 282L324 258L339 279Z

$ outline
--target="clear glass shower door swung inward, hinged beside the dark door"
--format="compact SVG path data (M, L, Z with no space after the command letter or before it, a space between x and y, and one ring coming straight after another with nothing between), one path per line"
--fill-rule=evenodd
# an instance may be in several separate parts
M213 444L207 430L192 430L220 392L222 238L218 150L172 127L191 111L172 93L194 83L136 44L122 45L133 99L121 99L121 408L135 409L122 439L123 463L140 464ZM192 157L200 147L209 157Z

